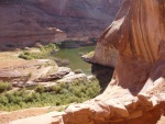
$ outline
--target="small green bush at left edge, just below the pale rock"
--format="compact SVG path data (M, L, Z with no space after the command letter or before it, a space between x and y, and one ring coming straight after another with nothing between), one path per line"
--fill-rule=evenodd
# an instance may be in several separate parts
M12 89L11 83L0 80L0 93L4 92L4 91L8 91L8 90L11 90L11 89Z

